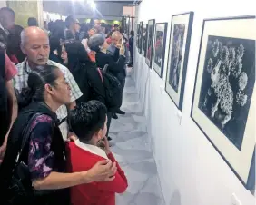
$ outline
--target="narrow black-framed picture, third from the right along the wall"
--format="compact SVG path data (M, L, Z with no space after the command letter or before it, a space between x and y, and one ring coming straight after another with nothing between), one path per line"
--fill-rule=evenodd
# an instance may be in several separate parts
M160 30L163 28L163 31ZM156 23L154 29L154 40L153 40L153 70L162 78L164 68L164 57L165 57L165 46L166 46L166 35L167 35L168 23ZM163 33L163 36L162 33ZM159 35L160 34L160 35ZM158 37L162 37L162 47L157 51L156 45L158 44ZM161 53L161 54L160 54ZM158 59L158 54L161 58Z

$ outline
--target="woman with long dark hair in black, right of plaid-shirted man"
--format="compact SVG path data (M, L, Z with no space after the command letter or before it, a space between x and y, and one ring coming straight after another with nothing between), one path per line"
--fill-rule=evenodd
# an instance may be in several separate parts
M100 70L92 63L85 51L84 45L80 42L66 43L62 49L62 59L67 68L74 76L82 97L76 100L77 103L97 100L105 103L105 90ZM107 135L111 123L112 112L108 108ZM111 140L110 137L108 137Z

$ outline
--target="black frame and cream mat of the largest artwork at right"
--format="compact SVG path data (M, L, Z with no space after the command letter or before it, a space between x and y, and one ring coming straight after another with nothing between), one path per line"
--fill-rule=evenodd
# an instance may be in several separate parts
M229 21L231 22L231 24L228 24ZM234 21L238 21L237 24L235 24ZM210 33L210 34L207 35L207 32L205 32L205 30L207 30L207 29L209 30L211 28L211 26L208 25L208 22L211 22L211 23L214 24L214 31L213 31L213 34ZM218 22L220 23L220 25L218 25ZM225 34L224 36L222 36L221 34L217 35L218 31L219 30L221 31L222 28L223 28L222 22L224 22L225 25L226 25L226 29L225 29L226 31L225 32L228 31L228 33ZM247 121L247 120L248 120L248 116L251 114L251 112L252 113L255 112L255 107L251 106L251 102L255 100L254 99L255 94L253 94L253 93L255 93L255 53L256 53L256 51L255 51L255 39L256 39L256 36L252 36L251 38L249 38L248 34L251 34L250 33L251 26L253 26L252 24L255 24L255 23L256 23L256 16L255 15L213 18L213 19L204 19L203 20L202 37L201 37L201 44L200 44L200 50L199 50L199 56L198 56L197 72L196 72L196 78L195 78L195 83L194 83L193 98L192 98L192 111L191 111L192 121L195 122L195 124L199 127L199 129L202 131L202 133L209 140L209 142L212 143L212 146L222 156L222 159L231 168L231 171L233 171L233 173L241 181L243 186L247 190L251 190L252 194L255 191L255 131L253 132L253 130L255 130L255 122ZM240 30L240 25L241 24L243 24L243 26L242 26L243 33L240 32L241 31ZM235 32L236 30L238 32ZM245 30L248 31L248 32L246 32ZM241 34L241 36L240 37L237 37L237 36L234 37L233 36L234 34L236 34L236 35ZM253 75L249 75L249 78L248 78L248 82L250 81L250 78L252 78L251 82L253 83L253 85L251 86L252 94L251 94L251 96L248 96L248 98L247 98L247 99L251 98L251 100L250 100L249 110L248 110L247 117L246 117L246 122L245 122L246 128L245 128L245 130L242 134L241 148L238 148L237 145L234 142L231 142L231 139L228 139L228 137L224 133L224 128L222 128L222 130L219 129L218 126L216 124L214 124L207 117L206 114L204 114L203 112L202 113L200 112L201 111L200 110L200 106L201 106L200 105L200 97L201 97L201 94L202 94L203 83L202 83L202 79L199 79L199 76L202 76L202 78L203 78L202 72L205 73L206 68L207 69L209 68L209 66L208 66L209 64L206 65L206 61L202 61L202 60L206 60L206 57L207 57L207 54L208 54L208 45L209 44L214 44L216 42L216 41L214 41L214 43L211 43L211 41L213 39L212 36L215 37L215 38L224 39L224 40L225 40L225 38L227 38L227 39L229 38L229 40L228 40L229 45L236 44L237 39L240 40L241 42L250 41L250 44L245 44L245 47L247 49L248 48L247 46L251 46L251 48L253 49L253 52L252 52L253 54L251 54L250 49L249 49L249 52L247 52L247 53L246 53L246 49L243 50L243 51L245 51L245 53L242 52L242 57L241 57L241 50L242 50L241 47L239 47L236 50L236 52L238 53L238 54L237 53L236 54L240 55L239 58L240 57L242 58L240 63L243 63L243 61L245 61L244 60L245 58L247 58L246 59L247 61L249 61L249 59L250 59L250 61L252 62L251 63L251 72L254 73ZM207 45L205 45L206 40L207 40ZM224 44L225 43L224 41L223 42L220 41L220 42L222 44L214 44L214 48L217 47L217 46L218 47L222 46L222 51L223 51L223 47L226 46L226 44ZM233 43L233 42L235 42L235 43ZM252 43L252 45L251 45L251 43ZM219 48L214 49L214 52L213 52L214 55L216 55L217 50L220 50L220 49ZM204 51L204 52L202 52L202 51ZM231 51L231 49L230 49L230 51ZM222 53L222 54L225 54L225 53ZM249 55L249 54L251 55L251 57L248 58L248 56L247 57L245 56L245 55ZM253 57L253 55L254 55L254 57ZM202 59L203 56L204 56L204 58ZM203 66L202 66L202 63L203 63ZM212 73L212 74L217 73L216 71L218 71L218 68L220 68L220 67L222 69L222 62L221 63L218 62L217 65L215 67L213 67L212 70L214 70L214 69L215 70L214 70L214 73ZM198 83L202 83L202 84L199 86ZM200 94L198 93L199 90L200 90ZM253 99L252 99L252 97L253 97ZM237 110L234 110L234 112L236 112L236 111ZM242 115L243 112L240 112L239 114ZM203 117L203 119L200 119L201 117L199 117L199 116ZM236 115L236 116L238 116L238 115ZM215 115L213 117L215 117ZM220 118L221 116L218 116L218 117ZM233 118L231 119L232 123L234 121L236 121L236 118L237 117L233 116ZM252 118L252 120L253 120L253 118ZM205 121L205 122L203 122L203 121ZM211 125L212 126L212 131L214 131L214 132L209 132L210 128L206 129L206 126L204 125L204 124L211 124L211 122L212 122L212 125ZM253 129L252 132L250 132L251 127ZM233 129L236 129L236 127L233 126ZM240 128L238 128L238 129L240 129ZM248 132L250 132L252 134L249 135ZM253 137L253 135L254 135L254 137ZM214 136L214 137L212 137L212 136ZM248 136L252 136L252 139ZM217 140L221 141L221 142L217 142ZM229 145L229 146L226 146L226 145ZM247 152L244 154L243 152L245 152L245 150ZM250 152L248 150L250 150ZM245 155L245 156L243 156L243 155ZM244 157L245 157L246 161L244 160ZM234 159L231 159L231 158L234 158ZM239 162L237 162L237 161L239 161ZM241 164L242 164L242 166L241 166ZM245 175L245 176L243 174L241 174L242 169L244 167L246 167L245 172L248 174L248 175Z

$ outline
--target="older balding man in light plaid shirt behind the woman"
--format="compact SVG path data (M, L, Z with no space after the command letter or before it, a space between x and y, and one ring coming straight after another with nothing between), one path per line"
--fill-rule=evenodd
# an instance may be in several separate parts
M31 26L27 27L21 33L21 49L26 55L24 62L16 65L17 75L14 78L15 89L21 93L23 88L27 87L27 79L29 72L38 65L54 65L58 67L63 73L65 80L69 83L71 87L71 102L66 106L61 106L56 114L60 121L63 123L60 125L61 132L63 134L64 140L68 137L68 125L64 119L67 116L67 109L74 109L75 100L82 96L82 93L74 81L74 77L70 71L64 67L64 65L55 63L49 60L50 45L48 35L39 27ZM69 136L73 133L70 132Z

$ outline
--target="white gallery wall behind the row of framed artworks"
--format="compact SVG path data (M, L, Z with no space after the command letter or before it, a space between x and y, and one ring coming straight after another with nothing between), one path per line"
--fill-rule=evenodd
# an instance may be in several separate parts
M189 11L194 12L194 19L183 108L179 112L164 86L171 18ZM137 48L133 61L133 78L147 119L166 205L231 205L233 193L242 205L255 204L255 197L190 117L203 19L255 13L255 0L143 0L136 7L136 24L141 21L147 24L150 19L156 23L168 22L163 79L148 68ZM251 29L256 29L256 24Z

